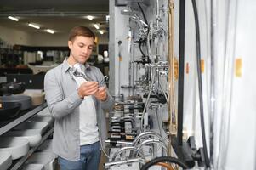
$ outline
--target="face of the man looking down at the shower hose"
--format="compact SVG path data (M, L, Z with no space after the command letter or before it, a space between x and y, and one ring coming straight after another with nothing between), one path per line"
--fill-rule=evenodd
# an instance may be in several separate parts
M72 42L68 41L68 46L71 49L71 63L84 64L93 52L94 38L77 36Z

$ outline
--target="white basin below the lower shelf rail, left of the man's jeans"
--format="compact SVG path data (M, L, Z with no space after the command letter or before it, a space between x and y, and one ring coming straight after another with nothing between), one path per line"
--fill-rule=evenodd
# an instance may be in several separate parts
M50 152L35 152L26 161L28 164L43 164L45 170L54 170L55 168L55 157Z

